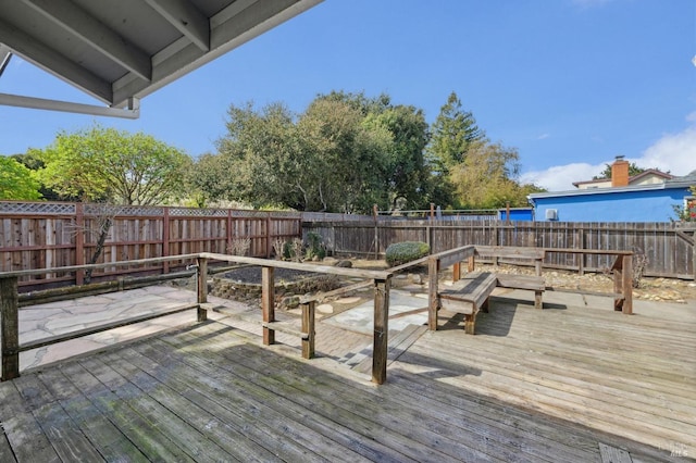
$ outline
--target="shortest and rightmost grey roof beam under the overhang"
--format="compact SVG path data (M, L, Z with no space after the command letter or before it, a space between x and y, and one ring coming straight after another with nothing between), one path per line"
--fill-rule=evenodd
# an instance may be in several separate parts
M210 50L210 22L188 0L145 0L202 51Z

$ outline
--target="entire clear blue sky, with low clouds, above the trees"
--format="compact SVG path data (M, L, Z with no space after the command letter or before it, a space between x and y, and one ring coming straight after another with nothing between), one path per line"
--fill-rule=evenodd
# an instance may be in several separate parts
M386 92L433 122L456 91L522 179L573 189L618 154L696 170L694 0L325 0L141 101L137 121L0 107L0 153L95 121L192 157L214 152L231 103L302 112L331 90ZM96 103L16 57L0 92Z

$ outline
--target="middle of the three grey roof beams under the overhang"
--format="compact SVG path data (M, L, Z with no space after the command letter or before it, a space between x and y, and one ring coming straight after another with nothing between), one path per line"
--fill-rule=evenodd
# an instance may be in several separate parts
M23 0L63 29L145 80L152 76L150 57L70 0Z

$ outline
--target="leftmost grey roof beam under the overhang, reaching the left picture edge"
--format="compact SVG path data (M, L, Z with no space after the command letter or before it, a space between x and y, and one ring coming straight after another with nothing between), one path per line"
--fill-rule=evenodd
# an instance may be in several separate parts
M90 96L111 104L111 84L69 60L48 45L0 18L0 43L26 61L59 76Z

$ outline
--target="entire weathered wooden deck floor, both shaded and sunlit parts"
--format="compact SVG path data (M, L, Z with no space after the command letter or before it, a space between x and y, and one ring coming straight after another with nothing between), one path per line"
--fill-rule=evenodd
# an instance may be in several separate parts
M476 336L440 312L382 386L321 323L311 361L211 321L25 372L0 384L0 462L696 456L693 316L490 303Z

